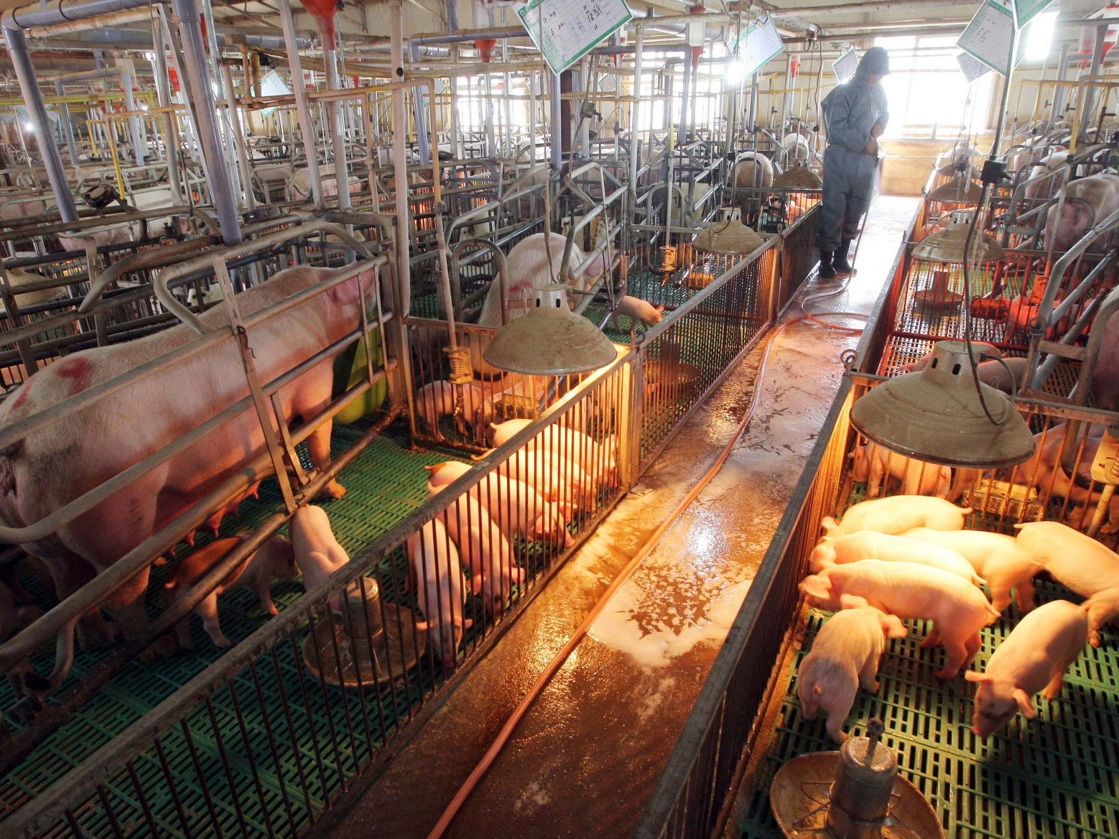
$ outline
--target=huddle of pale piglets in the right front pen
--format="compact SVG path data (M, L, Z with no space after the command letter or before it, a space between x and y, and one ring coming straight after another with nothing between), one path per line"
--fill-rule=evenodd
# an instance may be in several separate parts
M1033 718L1032 697L1056 697L1061 680L1087 642L1119 614L1119 555L1055 521L1016 525L1016 536L965 530L969 508L939 498L894 496L857 503L840 522L824 519L825 536L812 549L812 574L800 583L808 603L837 611L801 661L797 695L806 719L827 713L827 730L843 742L844 722L859 686L877 690L878 659L891 638L904 638L903 621L930 620L921 644L944 648L937 672L951 679L970 666L979 633L1017 602L1018 622L978 682L971 730L988 737L1022 711ZM1034 609L1033 578L1046 571L1088 600L1053 601ZM986 586L994 602L982 592Z

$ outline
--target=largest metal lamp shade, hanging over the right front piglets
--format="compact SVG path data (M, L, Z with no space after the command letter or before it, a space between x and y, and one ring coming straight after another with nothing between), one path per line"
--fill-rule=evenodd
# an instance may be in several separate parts
M975 357L979 350L972 347ZM884 381L850 409L866 437L909 458L968 469L1000 469L1034 453L1034 437L1010 399L980 384L984 414L962 341L940 341L919 373Z

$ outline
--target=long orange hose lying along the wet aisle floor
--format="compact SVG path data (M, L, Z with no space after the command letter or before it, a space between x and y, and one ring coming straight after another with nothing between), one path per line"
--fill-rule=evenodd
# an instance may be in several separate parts
M839 312L837 312L837 314ZM696 496L698 496L699 492L703 490L703 488L711 482L712 478L715 477L718 470L723 468L723 464L726 462L726 459L731 455L731 451L734 449L734 444L739 442L739 437L742 436L742 432L746 430L746 425L750 423L751 417L753 417L754 409L758 407L758 399L761 396L761 390L762 390L762 381L765 378L765 366L769 362L770 352L773 350L773 347L777 342L777 337L781 334L781 332L788 327L791 327L793 323L798 323L806 319L816 320L815 318L812 318L812 315L805 314L802 317L788 320L781 326L779 326L775 330L773 330L773 333L770 336L769 341L765 346L765 352L762 355L762 362L758 369L758 378L754 381L754 392L750 397L750 405L746 408L746 413L742 417L742 421L739 423L739 427L735 430L734 434L731 435L731 439L723 447L723 451L720 452L718 458L715 459L715 462L712 464L711 469L708 469L704 473L704 475L699 479L699 481L688 491L688 494L684 497L684 500L681 500L680 503L676 507L676 509L673 511L673 515L669 516L665 521L662 521L657 527L656 530L652 531L652 535L638 549L637 554L633 555L633 558L626 564L626 567L621 569L621 573L617 577L614 577L613 582L606 587L606 591L602 593L602 596L594 604L594 607L591 609L590 612L587 612L586 618L583 619L583 622L579 625L579 629L576 629L575 632L572 634L572 637L567 639L567 643L563 645L563 649L560 650L560 652L556 653L555 658L553 658L552 661L548 662L548 666L544 668L544 671L536 679L536 682L525 695L524 699L520 700L520 704L514 709L513 714L509 715L509 718L505 722L505 725L501 726L501 730L498 732L497 737L490 744L490 747L487 750L486 754L482 755L482 758L478 762L478 765L474 766L473 771L463 782L462 786L459 788L459 791L454 794L454 798L451 799L451 803L446 805L446 809L443 811L443 814L440 817L439 821L435 822L435 827L433 827L431 829L431 832L427 833L427 839L440 839L440 837L443 836L448 827L450 827L451 821L453 821L454 817L458 814L462 804L466 802L467 798L470 795L471 792L473 792L474 788L478 785L478 782L481 781L482 777L486 775L486 773L489 771L489 767L493 764L493 761L497 760L498 754L500 754L501 750L505 748L505 744L509 742L509 737L513 735L514 729L524 718L525 714L528 713L528 709L529 707L532 707L533 703L536 701L537 697L544 691L544 688L547 686L552 677L555 676L556 671L561 667L563 667L564 662L574 651L575 647L577 647L580 641L582 641L583 638L586 635L586 631L591 628L591 624L594 623L594 619L599 616L599 613L606 605L606 602L610 600L611 595L613 595L613 593L618 591L618 587L622 583L629 579L630 575L637 569L637 566L641 564L641 560L652 553L653 548L657 547L657 545L660 543L660 539L668 531L668 529L676 524L676 521L680 518L680 516L684 515L684 511L688 508L688 506L695 500ZM824 321L818 321L818 322L824 323L824 326L833 329L843 329L849 331L849 328L847 327L836 327L835 324L825 323Z

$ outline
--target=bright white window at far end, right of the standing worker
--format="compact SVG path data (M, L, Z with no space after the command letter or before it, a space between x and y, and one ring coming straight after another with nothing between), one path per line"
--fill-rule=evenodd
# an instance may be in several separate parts
M968 84L960 73L956 36L877 38L890 53L882 87L890 103L886 136L955 136L987 128L994 73Z

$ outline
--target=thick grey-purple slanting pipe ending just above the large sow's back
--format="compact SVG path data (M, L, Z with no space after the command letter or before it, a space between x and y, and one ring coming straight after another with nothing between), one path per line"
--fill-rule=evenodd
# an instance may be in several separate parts
M92 0L104 2L104 0ZM131 0L116 0L131 2ZM284 0L280 0L284 2ZM198 142L203 149L209 170L209 191L217 210L218 224L222 226L222 239L227 245L241 242L241 218L237 215L237 201L233 194L233 181L226 168L225 157L218 144L217 106L214 102L214 88L210 86L209 73L206 67L206 50L203 46L203 32L198 21L198 6L195 0L171 0L175 16L178 18L178 29L182 35L182 54L186 60L187 81L195 103L195 116L198 120Z

